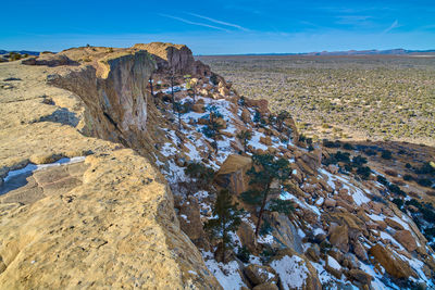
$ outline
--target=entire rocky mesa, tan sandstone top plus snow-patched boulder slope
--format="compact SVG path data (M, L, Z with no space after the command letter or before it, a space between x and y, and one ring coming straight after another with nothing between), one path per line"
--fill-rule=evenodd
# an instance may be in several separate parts
M420 186L389 184L398 162L369 159L362 178L362 148L348 148L350 163L307 144L291 117L239 97L187 47L78 48L0 66L3 288L434 287L433 224L409 197ZM275 194L295 207L268 214L258 239L256 209L238 199L253 153L290 162ZM212 178L187 174L194 163ZM222 188L247 210L225 264L203 229Z

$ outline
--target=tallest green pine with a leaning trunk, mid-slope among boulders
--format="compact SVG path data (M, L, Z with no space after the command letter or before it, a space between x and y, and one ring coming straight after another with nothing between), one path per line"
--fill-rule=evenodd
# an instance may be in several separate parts
M291 210L290 201L270 199L272 182L287 179L290 167L286 159L275 160L271 154L253 154L252 162L252 167L247 172L250 176L251 189L243 192L241 199L249 204L259 206L256 226L256 237L258 237L261 220L266 210L281 213L288 213Z

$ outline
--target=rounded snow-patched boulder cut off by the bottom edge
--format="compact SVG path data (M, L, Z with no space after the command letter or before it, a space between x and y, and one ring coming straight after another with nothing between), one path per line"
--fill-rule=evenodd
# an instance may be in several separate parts
M291 249L284 249L276 253L270 266L279 276L281 289L321 290L318 272L302 255Z

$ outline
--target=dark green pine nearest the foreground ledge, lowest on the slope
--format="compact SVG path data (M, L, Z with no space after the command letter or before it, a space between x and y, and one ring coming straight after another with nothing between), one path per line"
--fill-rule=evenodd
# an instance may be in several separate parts
M208 230L214 238L222 239L222 261L225 261L225 251L233 244L229 236L231 231L236 231L241 224L243 211L234 204L232 196L227 189L219 192L216 202L213 206L213 218L206 223Z

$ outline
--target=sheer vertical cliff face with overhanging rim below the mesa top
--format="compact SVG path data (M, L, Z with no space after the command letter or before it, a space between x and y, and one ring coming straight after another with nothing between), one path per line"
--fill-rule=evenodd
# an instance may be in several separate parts
M84 101L85 134L139 149L147 126L147 79L153 70L147 52L126 50L64 68L48 81Z

